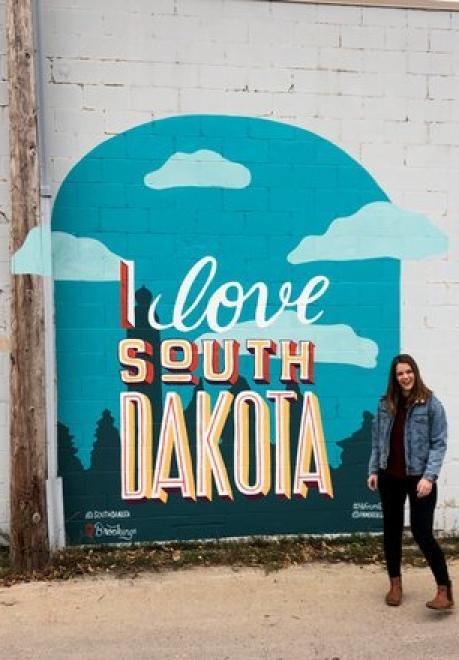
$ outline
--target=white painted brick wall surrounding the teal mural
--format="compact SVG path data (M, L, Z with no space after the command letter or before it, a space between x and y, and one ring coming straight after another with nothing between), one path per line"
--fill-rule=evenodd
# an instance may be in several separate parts
M446 257L403 264L402 346L418 357L448 411L437 524L458 529L459 13L262 0L44 6L54 191L89 148L152 117L248 114L337 142L395 203L427 213L450 234ZM0 204L7 209L3 53L0 37ZM7 271L0 257L2 289ZM8 447L2 403L0 386L0 528Z

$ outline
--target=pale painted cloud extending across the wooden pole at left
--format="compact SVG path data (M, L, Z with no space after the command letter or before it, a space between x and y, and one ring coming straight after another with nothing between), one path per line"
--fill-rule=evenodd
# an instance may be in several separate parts
M120 279L121 257L93 238L78 238L49 225L34 227L14 254L15 275L53 275L55 280L113 282Z

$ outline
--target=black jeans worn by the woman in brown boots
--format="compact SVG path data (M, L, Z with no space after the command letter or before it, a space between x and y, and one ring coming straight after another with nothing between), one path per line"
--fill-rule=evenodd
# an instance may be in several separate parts
M426 497L417 497L416 486L420 476L399 479L380 470L378 488L384 517L384 555L390 577L400 575L402 560L402 532L405 500L410 501L411 533L421 548L437 584L449 584L448 569L442 549L432 532L437 485Z

